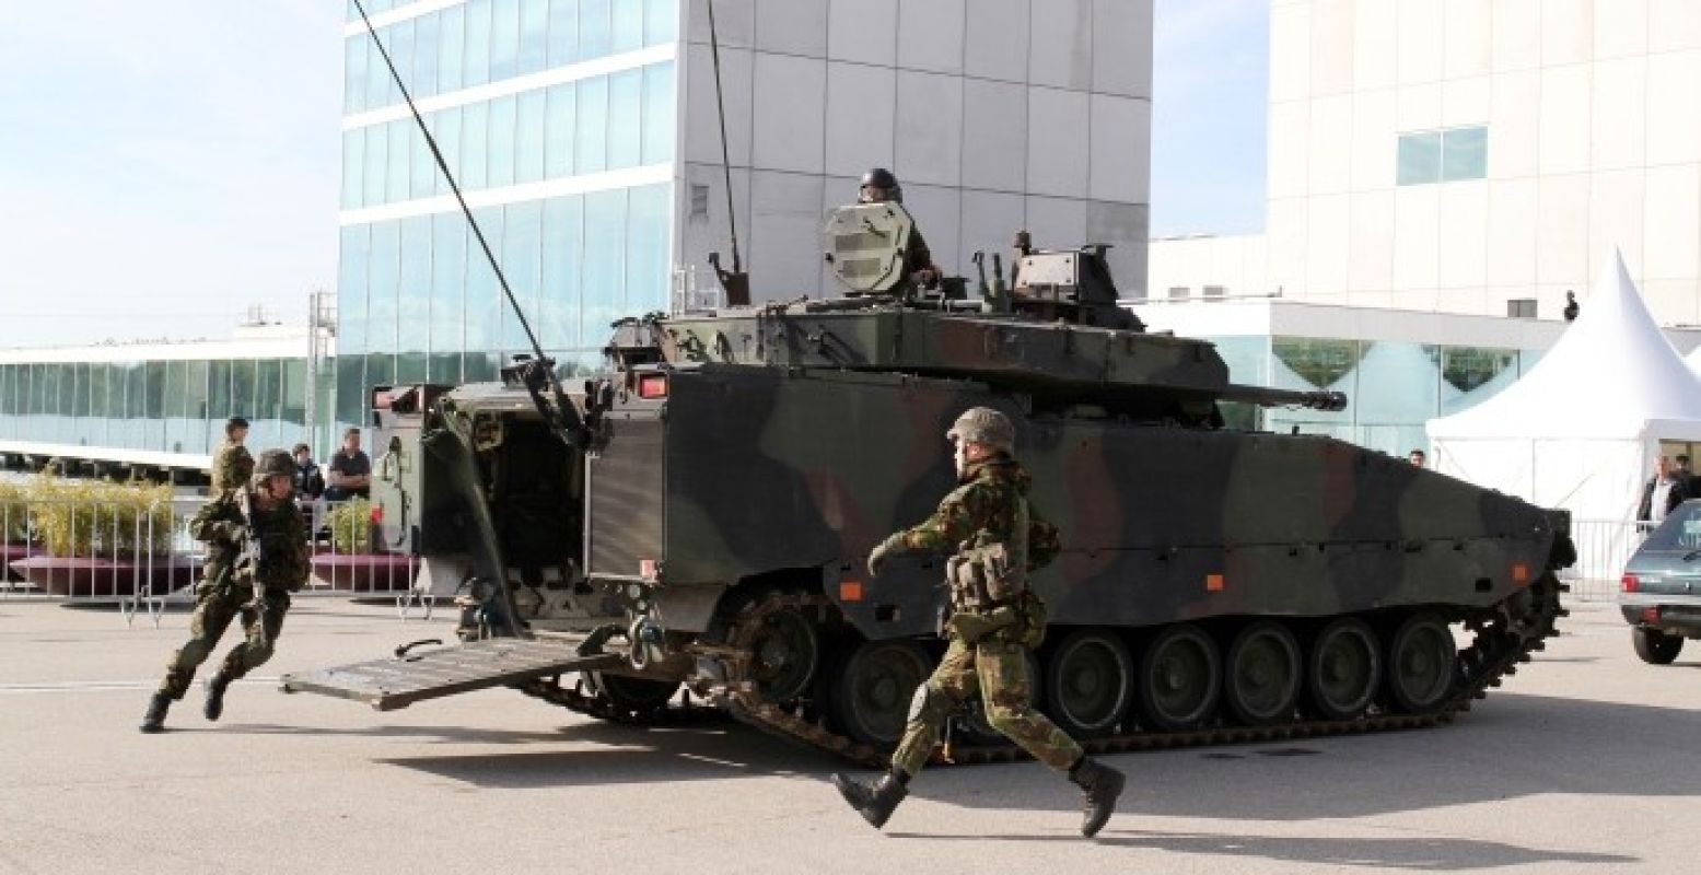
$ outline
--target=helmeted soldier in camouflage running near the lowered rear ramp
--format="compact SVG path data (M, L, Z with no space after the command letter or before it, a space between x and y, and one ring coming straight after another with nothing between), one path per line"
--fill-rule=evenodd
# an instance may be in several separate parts
M206 662L231 620L242 618L247 638L233 647L206 684L206 718L225 710L225 688L272 657L284 628L289 592L308 579L306 528L291 500L296 465L282 449L260 453L247 489L216 495L191 521L191 533L206 541L208 563L196 586L196 611L189 642L165 667L165 681L148 701L143 732L163 732L165 712L182 700L196 667Z

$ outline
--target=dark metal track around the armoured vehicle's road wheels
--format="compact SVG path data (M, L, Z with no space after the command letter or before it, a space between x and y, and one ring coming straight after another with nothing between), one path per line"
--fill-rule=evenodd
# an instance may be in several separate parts
M1568 613L1560 606L1560 582L1550 572L1512 598L1470 616L1465 625L1475 633L1475 640L1459 650L1456 689L1441 706L1427 713L1371 713L1356 720L1298 720L1269 727L1225 725L1189 732L1133 732L1104 739L1082 739L1080 746L1089 754L1102 756L1169 747L1391 732L1451 723L1459 713L1468 712L1475 700L1487 696L1490 688L1500 686L1505 676L1516 674L1517 666L1529 662L1533 652L1546 647L1546 638L1556 633L1555 623ZM796 592L774 592L747 604L728 633L726 643L731 657L723 659L730 669L728 678L716 684L718 689L713 689L711 696L725 703L733 718L767 734L871 768L885 768L888 751L830 732L815 720L767 701L760 695L760 688L750 681L748 667L754 654L748 645L764 616L774 611L805 609L830 611L833 608L823 596ZM956 747L949 761L959 764L1010 763L1026 758L1027 754L1014 744L987 744ZM934 763L942 761L946 759L936 751Z

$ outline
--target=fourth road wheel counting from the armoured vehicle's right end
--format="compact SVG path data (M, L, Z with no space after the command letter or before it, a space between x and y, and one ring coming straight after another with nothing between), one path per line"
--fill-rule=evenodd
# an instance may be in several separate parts
M1158 732L1198 729L1223 691L1216 642L1192 623L1169 626L1140 657L1140 717Z

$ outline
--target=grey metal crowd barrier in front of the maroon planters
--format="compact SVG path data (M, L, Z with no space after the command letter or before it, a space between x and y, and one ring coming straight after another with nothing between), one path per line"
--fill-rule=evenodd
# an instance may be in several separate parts
M189 523L208 502L121 509L100 500L32 499L0 504L0 601L116 604L126 623L146 613L155 625L172 604L194 603L206 545ZM432 599L415 594L418 562L384 552L357 500L303 502L311 577L294 598L393 599L401 620ZM340 507L345 507L338 511Z

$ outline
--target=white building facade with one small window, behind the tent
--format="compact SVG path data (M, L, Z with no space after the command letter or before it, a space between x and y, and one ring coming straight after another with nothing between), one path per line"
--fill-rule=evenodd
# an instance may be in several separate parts
M1558 318L1616 247L1701 322L1698 83L1692 0L1272 0L1266 233L1153 242L1153 296Z

